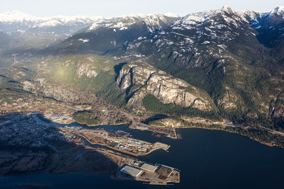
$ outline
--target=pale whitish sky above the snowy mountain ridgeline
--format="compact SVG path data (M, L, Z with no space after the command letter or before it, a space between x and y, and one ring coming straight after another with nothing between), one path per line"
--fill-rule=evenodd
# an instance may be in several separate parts
M103 16L114 17L137 13L188 13L222 8L235 11L269 12L284 6L284 0L0 0L0 13L23 11L33 16Z

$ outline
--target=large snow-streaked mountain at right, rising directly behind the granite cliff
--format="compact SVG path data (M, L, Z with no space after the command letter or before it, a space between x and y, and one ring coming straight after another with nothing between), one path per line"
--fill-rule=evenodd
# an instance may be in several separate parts
M204 88L226 110L256 105L255 110L269 112L276 99L272 96L284 90L284 81L275 79L283 74L278 72L284 64L283 23L280 6L268 13L237 12L228 6L190 13L127 43L123 57L146 57L158 69ZM275 115L282 115L284 103L279 104Z

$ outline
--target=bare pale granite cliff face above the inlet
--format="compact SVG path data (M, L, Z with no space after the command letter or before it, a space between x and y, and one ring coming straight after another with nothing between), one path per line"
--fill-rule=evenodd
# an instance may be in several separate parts
M116 83L121 91L126 93L127 105L130 108L143 108L142 100L148 94L165 104L174 103L184 108L192 107L205 111L213 108L206 92L144 62L125 64Z

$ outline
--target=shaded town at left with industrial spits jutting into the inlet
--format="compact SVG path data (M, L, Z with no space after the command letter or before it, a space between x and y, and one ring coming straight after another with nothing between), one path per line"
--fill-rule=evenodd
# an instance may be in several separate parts
M54 153L75 151L80 154L79 147L84 147L81 151L99 151L114 159L119 166L116 174L119 179L133 179L151 185L180 182L178 169L159 164L151 165L133 158L133 156L145 156L157 149L167 151L170 148L168 144L135 139L121 130L113 133L102 128L55 126L40 122L37 113L18 113L1 117L0 134L0 142L6 147L43 149L50 147ZM8 161L7 159L11 159L10 156L1 158L5 162Z

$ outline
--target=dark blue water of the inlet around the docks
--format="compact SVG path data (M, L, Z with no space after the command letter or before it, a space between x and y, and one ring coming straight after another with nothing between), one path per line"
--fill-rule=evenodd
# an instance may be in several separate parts
M129 130L126 125L103 127L109 131L126 130L148 142L170 144L169 152L158 150L140 159L178 168L181 183L157 186L104 175L39 173L0 177L0 188L22 188L24 183L50 188L284 188L284 149L217 130L189 128L178 131L182 139L169 139L154 137L148 131Z

